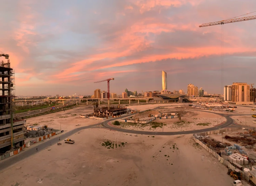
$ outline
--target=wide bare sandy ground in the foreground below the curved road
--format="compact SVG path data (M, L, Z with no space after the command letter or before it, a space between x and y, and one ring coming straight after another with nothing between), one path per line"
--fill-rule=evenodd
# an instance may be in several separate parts
M196 145L191 137L130 136L106 129L86 129L71 136L75 144L54 144L51 151L42 150L1 171L0 183L23 186L231 186L233 178L227 175L227 168ZM102 146L107 140L117 147Z

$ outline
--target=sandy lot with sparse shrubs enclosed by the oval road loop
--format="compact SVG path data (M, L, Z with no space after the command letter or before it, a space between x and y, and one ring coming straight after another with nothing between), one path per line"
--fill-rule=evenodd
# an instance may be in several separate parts
M159 111L161 113L177 113L179 110L176 109L161 109L161 110L152 110L146 111L144 113L138 113L133 116L133 118L145 119L151 113L152 115L158 114ZM218 121L219 120L219 121ZM120 121L120 119L118 119ZM213 127L214 125L226 122L226 118L214 114L214 113L207 113L207 112L200 112L198 110L191 111L191 110L184 110L183 117L181 121L178 118L174 119L159 119L152 121L148 124L136 124L136 123L124 123L121 122L120 128L126 128L131 130L145 130L145 131L186 131L186 130L196 130L196 129L203 129ZM159 127L155 127L155 125ZM153 126L153 127L152 127Z

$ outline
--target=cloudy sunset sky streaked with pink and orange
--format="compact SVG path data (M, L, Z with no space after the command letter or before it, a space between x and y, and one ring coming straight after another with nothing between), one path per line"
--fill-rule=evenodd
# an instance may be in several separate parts
M93 94L107 91L94 82L108 78L117 94L160 91L162 70L169 91L256 84L256 20L199 28L254 12L255 0L1 2L0 50L15 69L16 95Z

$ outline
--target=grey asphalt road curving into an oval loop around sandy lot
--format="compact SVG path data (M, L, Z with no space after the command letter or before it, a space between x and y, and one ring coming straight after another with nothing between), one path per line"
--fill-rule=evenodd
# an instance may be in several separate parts
M155 108L155 109L158 109L158 107ZM187 110L192 110L192 109L187 109ZM200 110L200 111L202 111L202 110ZM204 111L202 111L202 112L204 112ZM207 111L205 111L205 112L207 112ZM134 114L136 114L136 113L126 115L125 117L130 116L130 115L134 115ZM229 117L230 115L224 115L224 114L219 114L219 115L222 115L227 119L227 121L222 125L219 125L219 126L216 126L216 127L211 127L211 128L200 129L200 130L177 131L177 132L150 132L150 131L129 130L129 129L122 129L122 128L117 128L117 127L112 127L112 126L108 125L108 122L116 120L117 118L111 118L111 119L109 119L107 121L104 121L102 123L99 123L99 124L101 124L102 126L104 126L106 128L109 128L109 129L113 129L113 130L117 130L117 131L121 131L121 132L125 132L125 133L133 133L133 134L145 134L145 135L193 134L193 133L200 133L200 132L206 132L206 131L211 131L211 130L217 130L217 129L220 129L220 128L223 128L223 127L227 127L227 126L229 126L233 123L233 120ZM241 114L241 115L248 115L248 114ZM60 140L64 140L64 139L68 138L69 136L79 132L80 130L87 129L87 128L94 128L94 127L97 127L99 124L79 127L79 128L73 129L71 131L68 131L66 133L62 133L62 135L59 135L55 138L52 138L52 139L47 140L43 143L40 143L37 146L34 146L34 147L30 146L30 149L27 149L26 151L23 151L23 152L19 153L19 155L17 155L17 156L12 156L8 159L1 160L0 161L0 171L2 171L3 169L6 169L7 167L15 164L16 162L18 162L20 160L23 160L23 159L25 159L25 158L33 155L33 154L36 154L37 153L37 151L36 151L37 148L38 148L38 152L40 152L40 151L48 148L49 146L54 145L57 142L59 142L59 138L60 138Z

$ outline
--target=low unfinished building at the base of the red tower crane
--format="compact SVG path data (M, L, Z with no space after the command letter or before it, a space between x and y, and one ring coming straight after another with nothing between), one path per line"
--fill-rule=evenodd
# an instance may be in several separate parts
M97 117L111 117L127 114L130 109L125 106L96 107L93 105L93 114Z

